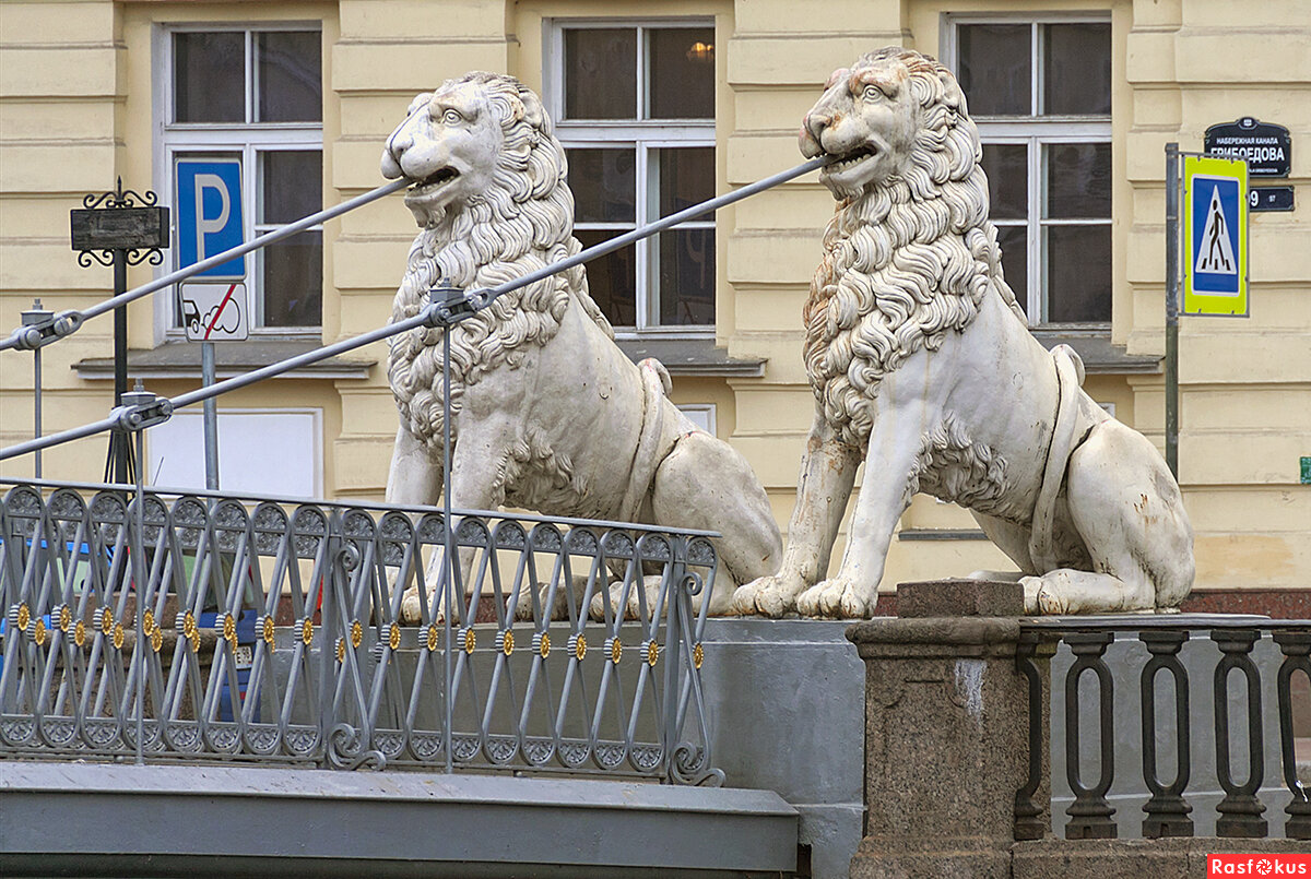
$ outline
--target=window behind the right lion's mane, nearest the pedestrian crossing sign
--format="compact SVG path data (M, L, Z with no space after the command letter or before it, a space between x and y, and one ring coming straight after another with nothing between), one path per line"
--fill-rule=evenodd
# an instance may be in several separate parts
M1033 324L1110 321L1110 24L953 18L1006 279Z

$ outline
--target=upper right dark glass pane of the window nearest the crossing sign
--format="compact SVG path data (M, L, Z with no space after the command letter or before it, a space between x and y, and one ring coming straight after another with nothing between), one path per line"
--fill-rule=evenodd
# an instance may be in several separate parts
M1110 25L1045 25L1042 113L1110 115Z

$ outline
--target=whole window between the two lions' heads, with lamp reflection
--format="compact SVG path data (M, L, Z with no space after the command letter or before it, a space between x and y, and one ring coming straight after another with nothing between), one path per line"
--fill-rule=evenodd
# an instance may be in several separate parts
M714 196L711 22L569 22L553 39L545 75L585 248ZM587 280L620 331L709 330L714 217L595 259Z

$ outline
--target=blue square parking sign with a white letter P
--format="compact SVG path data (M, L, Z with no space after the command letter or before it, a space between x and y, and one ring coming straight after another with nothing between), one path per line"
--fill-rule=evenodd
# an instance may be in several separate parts
M244 241L241 161L237 159L177 160L178 267L229 250ZM245 278L245 257L233 257L198 272L197 278Z

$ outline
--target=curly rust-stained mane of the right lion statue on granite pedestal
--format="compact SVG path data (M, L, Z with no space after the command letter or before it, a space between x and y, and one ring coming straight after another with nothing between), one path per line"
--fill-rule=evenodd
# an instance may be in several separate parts
M860 449L880 380L907 356L964 330L988 295L1024 321L1002 276L982 149L954 77L899 48L861 56L852 73L898 62L918 119L909 169L838 203L802 312L815 400L842 440Z

